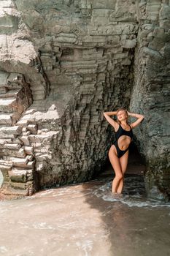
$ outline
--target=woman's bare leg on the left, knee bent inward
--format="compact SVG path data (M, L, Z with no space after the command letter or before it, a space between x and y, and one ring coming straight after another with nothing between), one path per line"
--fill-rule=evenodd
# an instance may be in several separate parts
M120 166L120 160L115 153L114 145L112 145L109 149L109 160L112 164L113 169L115 170L115 178L112 181L112 192L116 193L119 182L123 178L123 173Z

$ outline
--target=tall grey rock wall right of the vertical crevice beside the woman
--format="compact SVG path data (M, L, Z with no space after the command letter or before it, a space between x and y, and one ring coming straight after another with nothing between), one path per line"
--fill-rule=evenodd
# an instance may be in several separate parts
M139 32L131 94L131 110L144 111L146 120L136 129L136 135L147 165L147 194L163 200L169 200L170 195L169 14L169 1L141 1L138 5Z

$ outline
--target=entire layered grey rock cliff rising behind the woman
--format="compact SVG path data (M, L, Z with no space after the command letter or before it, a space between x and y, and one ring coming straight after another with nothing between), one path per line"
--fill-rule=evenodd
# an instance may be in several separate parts
M169 192L169 1L0 5L1 127L21 127L1 141L5 152L15 144L1 153L4 192L28 195L101 171L114 139L103 112L120 106L145 116L134 133L148 195ZM19 113L9 84L27 91Z

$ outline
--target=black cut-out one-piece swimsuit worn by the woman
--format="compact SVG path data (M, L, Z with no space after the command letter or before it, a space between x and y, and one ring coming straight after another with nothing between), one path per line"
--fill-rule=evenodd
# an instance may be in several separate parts
M129 127L130 127L130 125L129 125ZM129 136L132 138L133 132L132 132L132 129L130 129L130 131L126 131L125 129L123 129L123 127L121 127L121 125L119 125L119 129L117 129L117 132L115 132L115 135L116 135L116 141L115 141L114 145L117 150L117 157L120 158L123 156L123 154L125 154L126 151L128 151L128 148L131 143L128 145L128 148L126 148L125 150L121 150L118 146L117 141L122 135L126 135L126 136Z

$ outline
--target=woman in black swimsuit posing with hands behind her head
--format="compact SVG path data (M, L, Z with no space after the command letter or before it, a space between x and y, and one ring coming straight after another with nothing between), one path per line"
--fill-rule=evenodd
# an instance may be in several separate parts
M109 117L113 115L117 116L117 121ZM133 116L137 120L132 124L128 124L128 116ZM117 111L104 112L104 117L115 129L116 141L109 149L109 160L115 170L115 178L112 181L112 192L120 194L123 190L123 178L128 165L128 148L133 137L132 129L142 122L144 116L129 113L127 110L120 108Z

